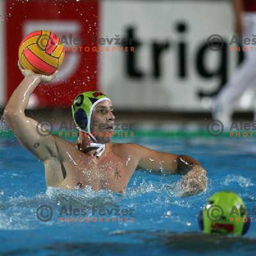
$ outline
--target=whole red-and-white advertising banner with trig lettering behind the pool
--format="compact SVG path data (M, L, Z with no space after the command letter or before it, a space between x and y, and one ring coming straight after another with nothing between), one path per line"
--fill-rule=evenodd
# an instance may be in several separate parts
M0 11L2 105L22 81L20 42L36 30L64 36L68 49L57 78L35 90L30 107L70 106L78 93L98 88L124 110L209 110L209 98L244 55L229 49L234 17L227 1L6 0ZM207 46L213 34L224 39L219 51ZM86 39L82 50L74 38Z

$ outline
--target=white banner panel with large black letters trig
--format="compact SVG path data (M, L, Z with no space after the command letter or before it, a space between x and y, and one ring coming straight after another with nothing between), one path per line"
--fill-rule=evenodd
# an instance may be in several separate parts
M228 45L207 47L212 34L232 38L228 1L102 1L101 12L102 37L135 40L132 54L100 55L99 84L119 109L207 110L200 95L218 90L238 64Z

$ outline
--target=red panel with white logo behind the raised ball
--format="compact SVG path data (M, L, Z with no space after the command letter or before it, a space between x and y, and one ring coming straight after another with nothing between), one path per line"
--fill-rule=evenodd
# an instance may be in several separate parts
M50 30L74 38L86 38L92 48L92 36L98 34L98 1L15 1L6 2L6 86L8 98L23 77L17 68L20 42L29 32ZM71 38L70 38L71 37ZM70 41L71 40L71 41ZM85 43L85 42L84 42ZM41 84L32 96L35 106L70 106L80 92L96 90L97 52L77 50L66 45L64 63L58 77L50 84ZM73 49L72 49L73 48ZM83 45L84 48L84 45Z

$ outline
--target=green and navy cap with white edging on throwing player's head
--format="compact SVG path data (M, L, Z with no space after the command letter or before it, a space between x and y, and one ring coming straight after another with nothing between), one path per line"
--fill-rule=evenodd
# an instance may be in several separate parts
M106 94L99 91L88 91L77 95L72 104L72 116L76 127L79 131L88 131L93 140L96 138L90 131L90 119L95 106L103 100L111 102Z

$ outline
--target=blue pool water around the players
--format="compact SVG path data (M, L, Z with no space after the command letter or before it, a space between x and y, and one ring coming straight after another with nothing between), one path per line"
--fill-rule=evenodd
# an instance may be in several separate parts
M198 210L214 192L231 190L247 208L256 207L256 141L252 138L150 138L134 141L155 150L188 154L208 171L206 192L177 196L178 175L138 170L127 191L116 194L90 189L46 191L43 165L15 138L0 140L1 255L255 255L256 223L244 239L200 235ZM134 222L58 222L63 205L134 208ZM53 217L41 222L36 209L48 205ZM99 217L96 215L95 217ZM113 216L111 216L112 218ZM253 216L256 218L256 216ZM105 220L106 217L103 219ZM184 233L184 234L183 234Z

